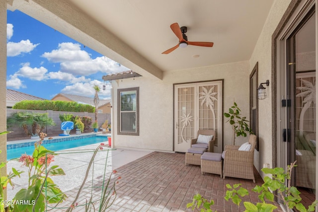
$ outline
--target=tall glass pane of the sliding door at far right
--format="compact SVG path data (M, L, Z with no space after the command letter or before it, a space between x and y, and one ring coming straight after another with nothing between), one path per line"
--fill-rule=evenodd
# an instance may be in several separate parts
M315 14L295 34L295 155L296 186L315 200L316 188L316 49ZM304 199L304 198L303 198ZM307 207L307 206L306 206Z

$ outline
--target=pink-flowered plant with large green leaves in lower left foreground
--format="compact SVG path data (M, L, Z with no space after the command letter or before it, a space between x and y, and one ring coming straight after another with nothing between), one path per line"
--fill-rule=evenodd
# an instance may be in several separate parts
M66 199L66 195L50 178L65 173L57 165L50 166L56 154L41 145L46 134L40 133L39 136L40 141L35 143L33 154L23 154L18 159L22 166L28 168L28 187L22 188L15 194L13 203L24 201L30 204L12 204L8 208L9 211L42 212L45 211L47 203L58 204Z

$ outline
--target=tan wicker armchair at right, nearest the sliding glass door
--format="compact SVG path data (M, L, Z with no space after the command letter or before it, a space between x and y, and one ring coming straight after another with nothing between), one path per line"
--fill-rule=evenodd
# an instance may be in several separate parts
M254 148L256 136L250 135L248 142L251 144L249 151L239 151L239 146L226 145L223 161L223 179L225 177L236 177L251 179L255 183L254 177Z

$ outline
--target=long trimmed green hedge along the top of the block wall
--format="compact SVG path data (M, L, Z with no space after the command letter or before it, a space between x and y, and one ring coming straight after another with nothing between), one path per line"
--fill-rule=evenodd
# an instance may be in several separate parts
M95 112L95 107L92 105L79 104L77 102L50 100L23 100L13 105L12 108L21 110L53 110L88 113Z

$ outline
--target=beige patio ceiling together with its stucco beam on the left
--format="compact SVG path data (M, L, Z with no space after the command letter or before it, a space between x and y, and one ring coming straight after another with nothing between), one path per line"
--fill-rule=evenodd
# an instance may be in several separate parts
M250 59L273 0L10 0L19 9L141 75ZM45 11L45 9L47 11ZM172 23L186 26L178 44ZM106 48L104 48L106 46Z

